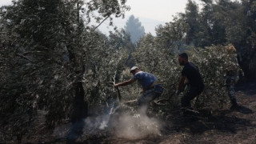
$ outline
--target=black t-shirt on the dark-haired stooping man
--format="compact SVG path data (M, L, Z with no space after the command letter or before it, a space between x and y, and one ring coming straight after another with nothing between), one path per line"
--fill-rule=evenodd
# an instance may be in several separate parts
M202 76L199 73L198 66L195 66L192 62L187 62L183 67L182 76L186 76L190 86L203 86Z

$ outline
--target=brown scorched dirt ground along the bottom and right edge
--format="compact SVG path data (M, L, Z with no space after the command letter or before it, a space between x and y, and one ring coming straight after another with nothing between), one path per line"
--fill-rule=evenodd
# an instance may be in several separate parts
M198 114L184 117L181 114L163 120L161 134L144 138L127 139L111 136L110 131L95 131L86 138L67 140L42 134L40 139L33 136L25 143L255 143L256 142L256 83L236 86L238 110L219 110L214 114ZM62 132L66 131L65 126ZM38 132L40 134L40 132ZM44 135L44 136L43 136ZM32 140L31 140L32 139Z

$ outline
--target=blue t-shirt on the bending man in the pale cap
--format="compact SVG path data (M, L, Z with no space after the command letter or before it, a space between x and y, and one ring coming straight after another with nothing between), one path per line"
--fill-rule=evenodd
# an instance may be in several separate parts
M143 71L136 73L132 79L138 80L138 82L142 85L143 90L149 89L152 83L157 81L157 78L154 76L154 74Z

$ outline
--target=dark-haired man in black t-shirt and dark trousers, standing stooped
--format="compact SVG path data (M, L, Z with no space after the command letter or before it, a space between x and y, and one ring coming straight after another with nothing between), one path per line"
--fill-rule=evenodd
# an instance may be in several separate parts
M176 95L182 91L183 86L187 85L188 91L182 98L182 107L190 109L190 101L201 94L204 88L202 76L199 73L198 66L195 66L192 62L188 62L188 56L186 53L178 55L178 62L184 67L178 84L178 90L176 90Z

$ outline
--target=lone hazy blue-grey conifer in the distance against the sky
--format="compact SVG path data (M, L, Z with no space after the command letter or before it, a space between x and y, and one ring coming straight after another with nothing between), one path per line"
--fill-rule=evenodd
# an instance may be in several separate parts
M145 34L145 29L142 26L142 23L139 22L138 18L135 18L134 15L131 15L126 22L125 30L127 34L130 34L131 42L138 42L139 38Z

